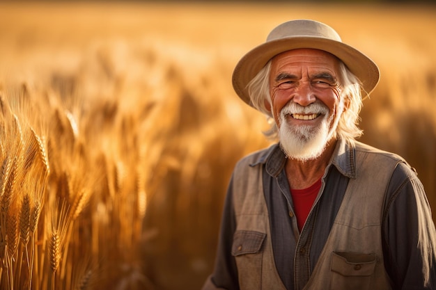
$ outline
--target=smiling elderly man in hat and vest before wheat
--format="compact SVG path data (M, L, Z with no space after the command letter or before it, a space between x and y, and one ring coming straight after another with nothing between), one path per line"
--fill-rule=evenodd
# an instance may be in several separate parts
M279 143L235 166L203 289L433 289L435 225L416 172L355 140L377 65L295 20L236 65L239 97Z

